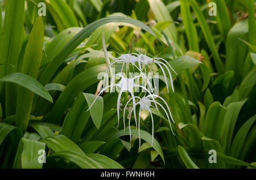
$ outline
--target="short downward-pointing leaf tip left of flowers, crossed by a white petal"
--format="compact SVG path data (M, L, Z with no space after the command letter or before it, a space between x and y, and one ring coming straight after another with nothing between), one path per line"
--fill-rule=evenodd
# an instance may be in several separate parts
M96 95L92 95L88 93L85 93L84 96L86 98L86 101L89 107L90 105L92 105L93 101L97 97ZM92 116L93 123L97 128L100 128L101 126L101 120L102 120L103 108L104 108L103 103L104 103L103 98L98 97L97 100L94 102L92 108L90 108L90 115Z

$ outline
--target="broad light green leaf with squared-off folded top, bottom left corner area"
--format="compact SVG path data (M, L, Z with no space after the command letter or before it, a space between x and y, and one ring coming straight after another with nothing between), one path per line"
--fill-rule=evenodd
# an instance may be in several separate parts
M46 144L22 138L19 143L13 168L22 169L42 169L43 163L40 163L40 150L45 149Z

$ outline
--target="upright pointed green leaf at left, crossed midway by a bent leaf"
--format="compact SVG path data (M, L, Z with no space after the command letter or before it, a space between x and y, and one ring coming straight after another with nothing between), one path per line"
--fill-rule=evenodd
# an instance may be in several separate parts
M28 39L21 72L38 78L39 66L42 59L44 42L44 23L42 16L36 19L32 28L30 38ZM28 120L30 118L34 93L26 88L19 86L17 88L17 106L16 106L16 126L22 131L26 131Z

